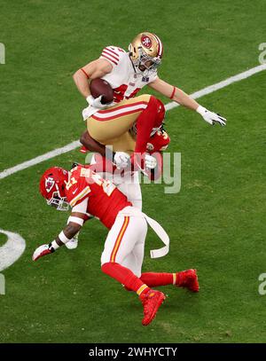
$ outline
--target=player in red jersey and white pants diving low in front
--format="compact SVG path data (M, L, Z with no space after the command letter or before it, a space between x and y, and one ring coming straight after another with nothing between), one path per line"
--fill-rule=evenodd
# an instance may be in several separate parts
M144 305L143 326L149 325L165 295L153 286L183 286L199 291L195 270L175 273L141 272L144 258L147 223L165 243L151 251L153 258L168 253L168 235L160 224L132 207L127 197L114 184L99 177L90 167L77 166L68 172L53 167L47 169L40 182L40 192L47 203L59 210L70 205L72 214L66 228L50 244L36 248L33 260L55 252L65 245L91 216L106 225L109 233L101 255L102 271L119 281L126 289L135 291Z

